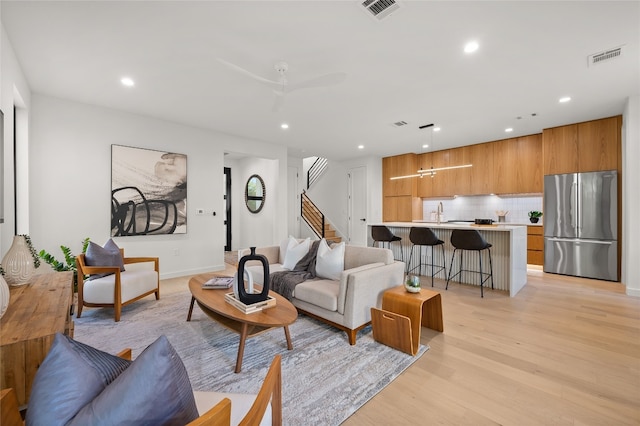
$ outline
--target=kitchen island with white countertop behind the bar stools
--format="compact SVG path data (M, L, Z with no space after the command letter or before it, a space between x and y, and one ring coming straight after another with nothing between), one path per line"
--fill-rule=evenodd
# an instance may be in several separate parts
M513 297L527 283L527 227L513 225L475 225L471 223L435 223L435 222L383 222L372 223L369 228L374 225L385 225L391 232L402 238L399 243L391 244L394 257L396 259L403 258L405 263L409 263L409 254L411 252L411 241L409 240L409 231L412 227L431 228L439 239L444 241L445 264L447 266L447 274L451 267L451 257L453 256L454 247L451 245L451 231L454 229L476 229L480 235L489 242L491 247L491 258L493 263L493 281L496 290L508 291L509 296ZM368 245L373 244L371 239L371 229L369 229ZM400 251L402 250L402 256ZM442 252L440 249L434 250L435 259L431 259L431 249L423 249L423 263L442 264ZM489 269L489 255L486 250L482 253L483 269ZM413 251L412 265L417 265L419 250ZM459 257L456 257L456 264L453 265L454 273L459 269ZM435 262L433 262L435 260ZM412 266L413 267L413 266ZM478 256L475 253L469 253L464 256L464 269L478 270ZM430 271L431 268L429 268ZM417 273L417 270L415 271ZM430 273L425 271L425 273ZM446 280L444 272L436 275L437 278ZM462 282L472 285L479 285L478 274L465 273L462 274ZM454 284L455 285L455 284ZM485 283L485 288L490 287L490 280Z

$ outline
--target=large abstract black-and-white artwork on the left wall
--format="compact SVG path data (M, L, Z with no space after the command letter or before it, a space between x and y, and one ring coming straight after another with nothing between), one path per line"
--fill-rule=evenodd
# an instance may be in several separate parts
M187 156L111 145L111 236L187 233Z

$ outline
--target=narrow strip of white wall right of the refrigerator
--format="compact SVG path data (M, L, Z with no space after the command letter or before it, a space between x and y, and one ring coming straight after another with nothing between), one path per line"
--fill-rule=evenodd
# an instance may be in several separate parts
M640 297L640 95L629 97L622 130L622 283Z

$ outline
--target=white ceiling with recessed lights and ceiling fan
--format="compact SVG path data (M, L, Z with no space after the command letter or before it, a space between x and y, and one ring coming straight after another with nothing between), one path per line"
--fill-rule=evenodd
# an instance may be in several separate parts
M0 3L33 92L285 144L294 156L539 133L620 114L640 93L638 1L402 1L381 21L355 0ZM480 49L466 55L472 39ZM587 66L621 45L621 57ZM274 111L271 88L217 58L271 80L284 60L291 84L346 78L288 93ZM428 123L442 131L418 129Z

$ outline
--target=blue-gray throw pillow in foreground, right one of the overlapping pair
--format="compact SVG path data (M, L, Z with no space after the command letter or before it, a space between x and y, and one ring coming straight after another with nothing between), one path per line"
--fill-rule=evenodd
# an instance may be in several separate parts
M160 336L71 425L185 425L198 417L182 360Z

